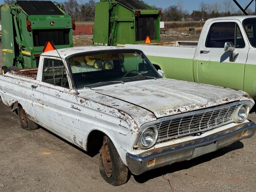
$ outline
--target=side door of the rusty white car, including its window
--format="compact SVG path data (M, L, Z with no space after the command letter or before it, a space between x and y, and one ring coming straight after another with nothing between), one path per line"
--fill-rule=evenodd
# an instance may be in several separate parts
M74 103L66 67L62 60L56 57L45 57L42 62L44 67L41 81L33 89L35 117L46 129L74 144L79 144L76 139L82 141L86 137L82 130L79 130L81 114Z

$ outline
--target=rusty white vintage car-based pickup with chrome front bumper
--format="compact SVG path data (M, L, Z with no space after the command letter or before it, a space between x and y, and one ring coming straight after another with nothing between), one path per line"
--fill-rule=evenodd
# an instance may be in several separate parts
M2 101L23 129L38 125L88 153L121 185L148 170L251 137L254 105L243 92L165 79L140 51L77 47L40 56L38 68L0 76Z

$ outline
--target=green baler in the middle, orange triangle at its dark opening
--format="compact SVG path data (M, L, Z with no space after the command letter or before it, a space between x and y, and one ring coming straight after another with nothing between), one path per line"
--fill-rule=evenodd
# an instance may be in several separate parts
M160 17L160 10L139 0L101 0L96 3L93 44L160 42Z

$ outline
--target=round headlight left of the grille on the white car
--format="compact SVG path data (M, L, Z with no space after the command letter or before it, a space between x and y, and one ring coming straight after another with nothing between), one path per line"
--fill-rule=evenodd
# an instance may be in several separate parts
M138 146L141 149L150 148L156 143L157 137L158 137L157 128L148 127L140 135L140 138L138 140Z

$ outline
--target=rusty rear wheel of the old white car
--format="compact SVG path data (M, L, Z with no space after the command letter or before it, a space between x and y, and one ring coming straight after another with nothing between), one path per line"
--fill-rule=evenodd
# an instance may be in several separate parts
M29 130L29 131L38 129L38 124L34 123L28 118L28 115L26 114L25 110L20 105L18 106L18 117L19 117L20 125L22 126L23 129Z

